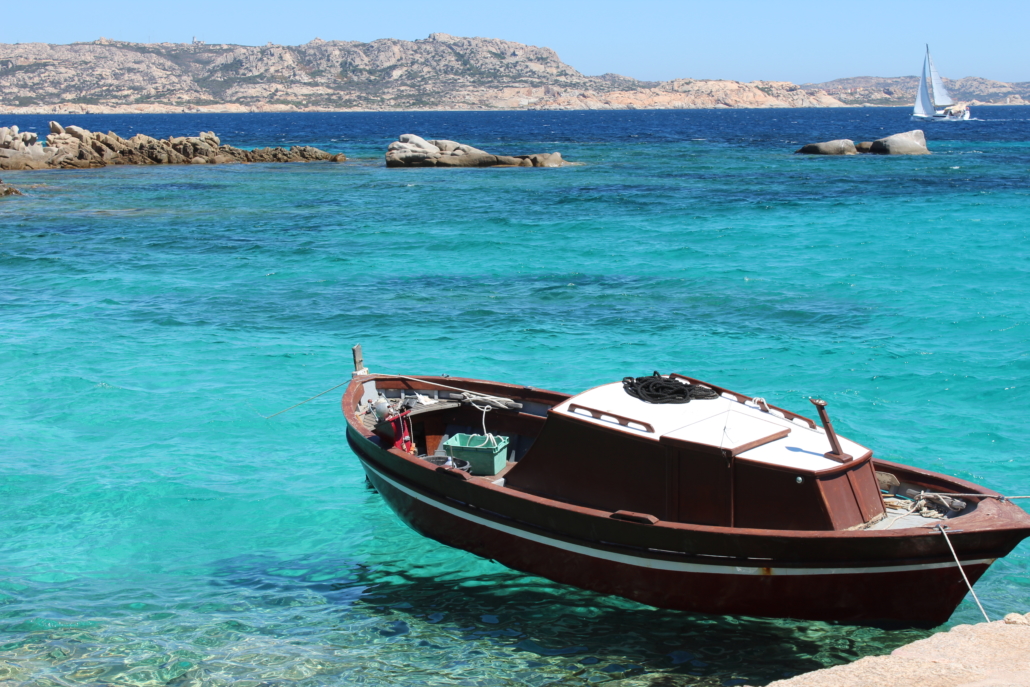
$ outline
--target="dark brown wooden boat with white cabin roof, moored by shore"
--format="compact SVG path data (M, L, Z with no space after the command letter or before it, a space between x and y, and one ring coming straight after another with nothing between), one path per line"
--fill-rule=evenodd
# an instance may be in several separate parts
M662 379L714 398L659 405L620 382L571 397L363 369L343 413L369 480L417 533L663 609L936 625L967 592L962 571L975 582L1030 536L1014 503L873 458L833 433L825 407L820 426ZM496 474L431 461L484 424L509 440Z

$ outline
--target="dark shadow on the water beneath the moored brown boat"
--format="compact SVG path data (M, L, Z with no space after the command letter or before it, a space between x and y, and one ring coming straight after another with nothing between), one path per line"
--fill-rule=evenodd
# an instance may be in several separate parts
M501 652L513 669L562 669L568 684L647 673L695 685L762 685L928 634L663 611L508 571L438 579L388 566L358 577L366 593L355 610L381 617L384 637L410 634L430 649L478 643L490 661Z

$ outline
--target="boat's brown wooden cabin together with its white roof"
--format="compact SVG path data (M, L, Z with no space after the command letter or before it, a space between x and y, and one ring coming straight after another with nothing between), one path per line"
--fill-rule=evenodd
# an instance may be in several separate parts
M649 404L616 382L552 408L506 484L673 522L848 529L883 515L884 504L872 452L838 441L846 461L826 456L822 427L761 401L723 391Z

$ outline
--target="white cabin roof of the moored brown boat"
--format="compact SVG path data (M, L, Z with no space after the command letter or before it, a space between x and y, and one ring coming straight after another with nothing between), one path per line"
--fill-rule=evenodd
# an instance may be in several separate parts
M666 437L735 449L734 455L767 465L811 472L840 467L823 455L831 449L822 427L725 392L686 404L651 404L626 393L622 382L613 382L574 396L552 412L655 442ZM837 439L844 452L855 458L869 452L845 437Z

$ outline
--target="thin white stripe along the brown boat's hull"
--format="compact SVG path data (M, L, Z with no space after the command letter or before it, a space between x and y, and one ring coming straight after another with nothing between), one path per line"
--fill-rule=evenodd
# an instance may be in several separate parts
M636 565L638 568L648 568L652 570L663 570L673 571L677 573L707 573L714 575L755 575L755 576L791 576L791 575L864 575L866 573L905 573L911 571L927 571L935 570L938 568L956 568L957 564L952 562L942 563L917 563L909 565L878 565L869 568L771 568L771 566L745 566L745 565L707 565L705 563L697 562L686 562L678 560L662 560L657 558L645 558L643 556L634 556L625 553L614 553L612 551L604 551L600 549L590 548L588 546L582 546L579 544L571 544L569 542L563 542L558 539L552 539L550 537L544 537L542 535L537 535L535 533L528 533L524 529L519 529L518 527L512 527L500 522L494 522L493 520L488 520L486 518L473 515L472 513L466 513L456 508L448 506L446 504L440 503L428 496L424 496L417 491L409 489L408 487L400 484L390 478L383 475L381 472L373 468L369 461L364 461L367 470L372 471L375 475L387 482L390 486L400 491L408 494L416 501L420 501L424 504L428 504L434 508L437 508L445 513L453 515L455 517L461 518L462 520L468 520L476 524L482 525L484 527L489 527L490 529L496 529L497 531L503 531L514 537L519 537L521 539L529 540L538 544L543 544L545 546L551 546L561 551L570 551L573 553L579 553L584 556L590 556L591 558L600 558L603 560L610 560L617 563L624 563L627 565ZM966 560L963 561L963 565L990 565L994 562L994 558L982 558L978 560Z

